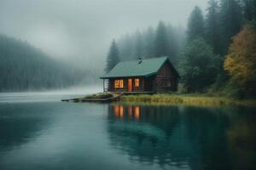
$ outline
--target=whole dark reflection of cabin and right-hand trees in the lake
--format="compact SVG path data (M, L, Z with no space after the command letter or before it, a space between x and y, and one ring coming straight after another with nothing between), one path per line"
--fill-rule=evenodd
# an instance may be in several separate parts
M236 119L247 117L248 111L243 115L236 111L239 110L109 105L108 135L112 147L131 161L190 169L236 169L237 164L247 164L247 169L253 169L256 117L252 117L253 125L245 121L247 126L239 133L237 128L242 124ZM245 133L250 138L244 138ZM246 143L240 145L239 139Z

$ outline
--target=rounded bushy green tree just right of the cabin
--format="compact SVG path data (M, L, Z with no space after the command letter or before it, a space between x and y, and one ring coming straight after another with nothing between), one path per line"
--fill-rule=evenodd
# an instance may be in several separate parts
M195 39L184 48L180 70L183 86L188 92L202 92L215 81L215 58L212 48L202 38Z

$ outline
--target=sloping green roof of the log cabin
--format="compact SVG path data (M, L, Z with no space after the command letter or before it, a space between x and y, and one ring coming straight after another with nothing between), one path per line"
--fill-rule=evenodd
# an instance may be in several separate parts
M101 78L112 77L149 77L157 73L160 67L169 60L167 57L139 59L131 61L122 61L115 65L107 75Z

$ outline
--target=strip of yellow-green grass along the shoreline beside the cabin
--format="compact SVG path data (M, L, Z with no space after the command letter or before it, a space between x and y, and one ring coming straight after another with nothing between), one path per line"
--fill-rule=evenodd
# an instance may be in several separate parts
M202 94L124 95L121 96L120 101L149 105L256 105L256 100L254 99L230 99Z

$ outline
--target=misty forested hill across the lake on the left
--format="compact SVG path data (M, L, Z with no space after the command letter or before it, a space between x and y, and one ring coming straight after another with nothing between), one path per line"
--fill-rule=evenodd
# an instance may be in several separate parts
M66 88L81 82L81 77L82 71L27 42L0 35L0 91Z

